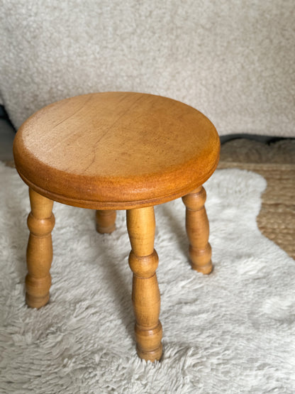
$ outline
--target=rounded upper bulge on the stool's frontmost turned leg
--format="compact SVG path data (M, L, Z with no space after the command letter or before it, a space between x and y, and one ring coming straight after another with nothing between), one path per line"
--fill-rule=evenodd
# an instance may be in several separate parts
M133 251L130 251L128 262L134 275L139 278L150 278L155 274L159 258L155 249L149 256L136 256Z

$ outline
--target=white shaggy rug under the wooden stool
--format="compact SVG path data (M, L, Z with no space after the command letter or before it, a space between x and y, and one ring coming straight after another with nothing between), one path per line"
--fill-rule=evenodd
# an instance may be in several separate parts
M1 163L0 163L1 164ZM29 212L0 165L1 393L294 393L295 263L257 229L265 180L206 182L214 270L191 270L181 199L155 209L164 355L135 353L125 212L111 236L94 212L55 203L50 304L24 302Z

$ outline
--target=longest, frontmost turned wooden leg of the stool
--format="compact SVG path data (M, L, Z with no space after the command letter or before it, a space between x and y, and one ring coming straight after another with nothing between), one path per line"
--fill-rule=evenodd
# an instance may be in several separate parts
M133 271L132 300L138 356L150 361L160 360L162 325L159 320L160 291L155 274L159 258L154 249L154 208L128 210L127 228L132 248L129 266Z

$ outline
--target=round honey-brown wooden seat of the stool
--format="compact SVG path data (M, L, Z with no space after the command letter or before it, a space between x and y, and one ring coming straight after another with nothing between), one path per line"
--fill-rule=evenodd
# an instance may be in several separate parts
M191 106L152 94L106 92L56 102L30 116L13 146L35 192L93 209L160 204L202 185L219 138Z

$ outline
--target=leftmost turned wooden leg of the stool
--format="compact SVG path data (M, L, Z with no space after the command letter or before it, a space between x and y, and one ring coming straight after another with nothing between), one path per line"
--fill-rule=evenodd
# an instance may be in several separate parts
M28 215L30 236L27 248L26 303L40 308L49 301L52 262L51 231L55 225L53 201L29 189L31 212Z

